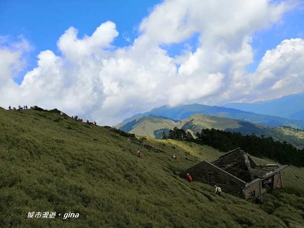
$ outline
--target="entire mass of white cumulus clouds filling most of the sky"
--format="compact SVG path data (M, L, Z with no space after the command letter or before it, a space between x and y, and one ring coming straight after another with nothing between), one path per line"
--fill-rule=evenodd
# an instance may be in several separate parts
M140 35L128 47L113 46L119 32L111 21L82 38L70 27L57 42L60 54L41 51L37 67L20 86L13 77L22 68L28 43L22 40L13 48L2 38L0 92L5 99L0 105L56 107L70 116L115 125L164 104L220 105L298 92L303 85L301 39L282 41L265 53L256 72L246 71L254 57L254 32L279 23L294 6L293 1L167 0L142 20ZM199 34L197 48L184 44L179 55L169 56L164 45L194 34Z

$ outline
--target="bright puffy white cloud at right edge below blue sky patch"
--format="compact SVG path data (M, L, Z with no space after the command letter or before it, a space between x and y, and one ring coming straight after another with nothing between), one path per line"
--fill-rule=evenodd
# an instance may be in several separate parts
M267 100L303 91L303 61L302 39L284 40L276 49L268 50L250 82L253 97Z

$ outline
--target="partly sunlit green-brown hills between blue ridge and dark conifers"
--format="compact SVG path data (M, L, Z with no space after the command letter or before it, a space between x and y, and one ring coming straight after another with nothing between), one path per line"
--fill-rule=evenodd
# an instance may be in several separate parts
M183 130L191 130L194 134L201 133L202 129L218 129L223 131L241 132L243 135L256 134L273 137L274 140L286 141L296 146L304 148L304 131L290 127L272 127L234 120L207 116L202 113L192 115L184 120L173 121L168 118L149 115L147 117L137 117L130 122L121 123L117 126L121 130L134 133L136 135L147 135L161 139L163 131L167 134L169 130L177 127Z

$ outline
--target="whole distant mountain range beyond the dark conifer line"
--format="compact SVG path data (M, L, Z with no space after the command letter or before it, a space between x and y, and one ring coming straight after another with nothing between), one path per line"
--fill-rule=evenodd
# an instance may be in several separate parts
M301 96L301 95L299 95ZM287 99L288 96L268 101L256 102L253 104L245 104L248 107L259 107L258 105L269 105L275 107L275 104L281 104L283 106L284 100L291 103L291 98L299 99L299 96L292 96ZM295 102L293 102L295 104ZM227 104L228 105L228 104ZM232 105L232 104L231 104ZM236 104L235 104L236 105ZM286 104L287 105L287 104ZM300 108L300 105L298 105ZM299 113L301 110L296 110L295 107L289 109L294 110L289 116L301 117ZM279 108L278 108L279 109ZM278 111L273 109L274 113ZM284 108L280 109L283 113ZM285 112L285 115L287 112ZM280 128L275 128L283 126ZM243 111L235 108L208 106L202 104L186 104L176 107L170 107L168 105L154 108L145 113L138 113L131 118L124 120L121 124L116 126L123 131L132 132L136 135L147 135L150 137L161 138L163 131L168 133L170 129L177 127L191 131L201 132L202 129L215 128L224 131L241 132L243 135L257 134L272 136L274 139L280 141L287 141L293 145L302 148L304 146L304 120L299 118L287 119L278 116L262 115L255 112Z

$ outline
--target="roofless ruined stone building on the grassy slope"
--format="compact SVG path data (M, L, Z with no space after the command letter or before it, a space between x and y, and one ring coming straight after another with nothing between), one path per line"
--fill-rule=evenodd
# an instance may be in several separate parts
M278 164L257 165L249 154L237 148L211 163L203 161L179 176L186 178L189 173L194 181L212 186L216 184L223 192L247 200L283 187L281 170L286 167Z

